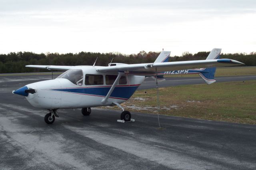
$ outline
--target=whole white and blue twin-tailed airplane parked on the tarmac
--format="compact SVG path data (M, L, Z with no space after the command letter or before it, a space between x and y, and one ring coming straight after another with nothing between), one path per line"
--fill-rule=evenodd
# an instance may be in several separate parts
M12 93L25 96L34 107L49 110L44 117L48 124L59 117L57 109L82 108L83 115L90 115L91 107L114 105L123 111L120 119L130 121L130 112L120 104L133 95L146 77L163 79L163 75L196 73L211 84L215 82L216 67L243 65L232 59L219 59L220 52L221 49L212 49L206 60L168 62L170 51L162 51L154 63L110 63L107 67L95 63L93 66L26 65L65 72L56 79L31 83Z

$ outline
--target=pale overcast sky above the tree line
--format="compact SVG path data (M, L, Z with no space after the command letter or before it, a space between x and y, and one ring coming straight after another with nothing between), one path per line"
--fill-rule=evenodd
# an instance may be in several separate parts
M0 0L0 53L256 51L256 0Z

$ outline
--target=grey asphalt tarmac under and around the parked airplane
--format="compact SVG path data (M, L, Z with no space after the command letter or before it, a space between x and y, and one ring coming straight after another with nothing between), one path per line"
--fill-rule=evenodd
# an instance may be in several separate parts
M217 82L256 78L238 77ZM158 129L157 115L132 113L135 122L118 123L121 111L97 108L90 116L62 109L47 125L47 111L11 91L49 78L0 77L0 169L256 169L255 125L160 115ZM171 78L160 86L201 81ZM147 79L141 89L150 85Z

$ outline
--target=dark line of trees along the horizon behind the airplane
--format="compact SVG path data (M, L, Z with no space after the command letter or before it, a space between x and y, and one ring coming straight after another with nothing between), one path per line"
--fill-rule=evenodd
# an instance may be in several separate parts
M201 51L195 54L184 52L181 56L170 57L169 61L188 61L206 59L210 51ZM140 51L137 54L122 53L33 53L33 52L11 52L0 54L0 73L25 73L40 72L45 69L27 68L25 65L93 65L96 58L96 65L107 66L113 59L113 63L152 63L156 60L160 52ZM256 66L256 52L247 53L225 53L220 58L235 59L247 66Z

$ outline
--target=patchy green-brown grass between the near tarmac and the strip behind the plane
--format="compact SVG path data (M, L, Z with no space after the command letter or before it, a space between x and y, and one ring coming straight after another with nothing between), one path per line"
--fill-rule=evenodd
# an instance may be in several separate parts
M256 124L256 80L164 87L159 92L162 115ZM156 89L136 91L122 105L157 114Z

